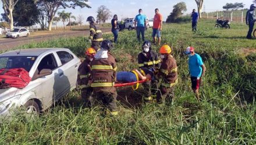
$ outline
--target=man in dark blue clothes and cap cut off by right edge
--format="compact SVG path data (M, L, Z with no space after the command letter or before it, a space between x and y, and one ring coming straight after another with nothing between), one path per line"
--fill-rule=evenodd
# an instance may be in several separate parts
M255 22L255 13L254 9L256 6L251 4L250 9L246 12L246 24L249 26L247 39L251 39L251 32L253 32L254 22Z

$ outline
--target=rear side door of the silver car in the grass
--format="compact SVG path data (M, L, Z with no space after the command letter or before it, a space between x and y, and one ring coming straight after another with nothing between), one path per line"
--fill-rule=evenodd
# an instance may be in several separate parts
M60 83L62 84L61 96L70 92L70 89L76 87L77 81L77 68L79 67L79 61L74 59L74 56L67 51L61 50L56 52L61 60L61 66L58 68L60 75ZM59 96L59 97L61 97Z

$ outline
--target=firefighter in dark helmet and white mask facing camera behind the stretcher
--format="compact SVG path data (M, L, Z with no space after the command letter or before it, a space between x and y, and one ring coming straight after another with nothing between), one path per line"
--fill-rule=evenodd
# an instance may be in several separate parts
M144 41L142 45L143 52L138 54L138 66L139 68L146 67L148 69L154 68L154 70L158 71L161 66L161 61L156 52L151 50L151 42ZM151 102L154 97L156 97L157 93L157 79L152 78L151 81L147 81L143 83L143 86L146 90L146 96L144 100L146 102ZM152 93L152 94L151 94Z

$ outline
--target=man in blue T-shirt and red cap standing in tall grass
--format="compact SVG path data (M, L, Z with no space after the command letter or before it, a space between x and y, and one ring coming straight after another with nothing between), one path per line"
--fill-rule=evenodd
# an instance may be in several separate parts
M188 47L184 52L187 56L189 56L189 72L190 72L190 79L191 79L191 86L195 93L195 97L199 101L199 87L202 82L202 77L205 74L205 66L202 62L202 58L200 55L194 52L193 47Z

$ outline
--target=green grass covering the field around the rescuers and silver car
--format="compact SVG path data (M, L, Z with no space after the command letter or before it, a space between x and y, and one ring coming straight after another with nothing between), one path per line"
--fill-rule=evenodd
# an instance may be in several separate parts
M65 96L38 117L17 113L0 126L0 144L255 144L256 63L255 40L245 39L247 26L232 23L230 30L214 28L214 20L201 19L198 31L191 24L165 24L162 44L173 48L179 84L172 104L143 104L143 89L118 89L118 117L103 117L101 108L84 108L79 92ZM147 39L152 30L148 30ZM104 35L113 39L112 35ZM119 33L112 50L118 70L137 68L141 43L135 31ZM61 38L22 48L63 47L83 56L87 37ZM207 71L197 102L190 89L187 56L194 46ZM154 50L159 46L152 46Z

